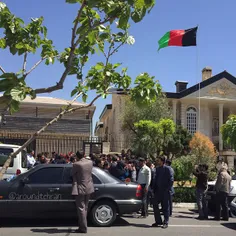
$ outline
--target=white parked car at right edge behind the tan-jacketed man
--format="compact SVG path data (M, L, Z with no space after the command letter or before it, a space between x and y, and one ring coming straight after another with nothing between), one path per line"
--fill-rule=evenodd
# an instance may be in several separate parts
M208 182L208 191L207 191L208 206L212 212L215 211L215 202L216 202L215 183L216 181ZM236 197L236 175L232 177L231 181L230 193L228 195L229 205L235 197Z

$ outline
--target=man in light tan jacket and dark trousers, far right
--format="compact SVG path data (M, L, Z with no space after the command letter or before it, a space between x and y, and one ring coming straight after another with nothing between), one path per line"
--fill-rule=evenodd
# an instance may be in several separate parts
M230 191L231 176L227 172L227 166L222 166L218 174L215 189L216 189L216 217L215 220L221 218L221 207L223 220L229 220L228 194Z

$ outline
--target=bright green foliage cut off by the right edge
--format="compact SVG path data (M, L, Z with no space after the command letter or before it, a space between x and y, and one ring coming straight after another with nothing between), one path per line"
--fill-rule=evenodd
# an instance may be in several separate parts
M230 115L225 124L222 125L220 132L226 145L236 150L236 115Z

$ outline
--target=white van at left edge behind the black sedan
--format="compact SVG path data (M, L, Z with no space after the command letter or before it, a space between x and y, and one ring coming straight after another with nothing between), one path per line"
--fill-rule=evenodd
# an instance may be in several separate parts
M0 170L2 169L8 156L15 152L20 146L14 144L0 144ZM7 179L13 175L19 175L26 172L27 169L27 152L23 150L11 162L3 179Z

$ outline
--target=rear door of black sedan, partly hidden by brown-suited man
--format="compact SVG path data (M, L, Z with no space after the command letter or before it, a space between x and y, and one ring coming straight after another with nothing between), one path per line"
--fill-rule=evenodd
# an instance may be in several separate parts
M60 211L65 217L77 217L75 197L71 195L72 190L72 167L66 167L63 174L63 182L61 185L61 199L60 199ZM99 192L104 184L93 173L93 184L95 192L90 196L90 206L99 197Z

